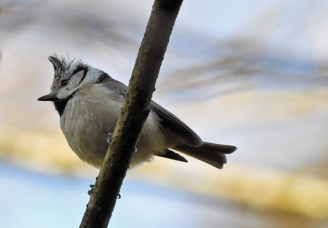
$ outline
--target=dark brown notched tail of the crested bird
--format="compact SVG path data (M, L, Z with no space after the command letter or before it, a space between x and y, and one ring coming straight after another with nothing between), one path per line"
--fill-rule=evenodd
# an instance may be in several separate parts
M188 145L184 145L177 146L173 149L206 162L218 169L222 169L223 164L227 163L225 154L230 154L237 148L235 146L204 142L204 144L200 147L190 147Z

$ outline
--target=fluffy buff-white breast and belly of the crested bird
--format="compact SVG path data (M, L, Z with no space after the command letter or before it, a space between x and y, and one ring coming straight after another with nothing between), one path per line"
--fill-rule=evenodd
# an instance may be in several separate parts
M83 161L100 168L123 105L123 98L101 83L83 86L68 102L60 126L72 150ZM158 118L151 112L137 143L130 167L151 161L154 151L166 149Z

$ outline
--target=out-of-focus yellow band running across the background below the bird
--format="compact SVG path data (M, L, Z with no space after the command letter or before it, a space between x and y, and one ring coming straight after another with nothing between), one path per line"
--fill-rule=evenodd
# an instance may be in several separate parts
M46 173L91 177L98 172L77 158L58 130L45 133L3 129L0 131L0 156ZM129 176L158 185L171 185L189 192L226 198L261 210L274 209L307 217L328 218L326 178L306 173L242 167L231 162L223 170L217 171L195 159L188 160L189 163L181 164L157 158L152 164L129 172Z

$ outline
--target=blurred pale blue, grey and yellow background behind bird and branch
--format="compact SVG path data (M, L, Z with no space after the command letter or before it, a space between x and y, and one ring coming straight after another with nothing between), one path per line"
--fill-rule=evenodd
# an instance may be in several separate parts
M49 102L53 52L128 83L153 0L0 3L0 227L78 227L98 170ZM188 157L129 171L110 227L328 227L328 1L186 0L153 100L223 170Z

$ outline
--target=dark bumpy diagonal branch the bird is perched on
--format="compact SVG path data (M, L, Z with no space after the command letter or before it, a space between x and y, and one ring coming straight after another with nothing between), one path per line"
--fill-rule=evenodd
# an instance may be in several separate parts
M112 143L80 228L108 226L141 128L149 114L155 82L181 4L182 0L154 2Z

